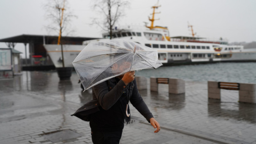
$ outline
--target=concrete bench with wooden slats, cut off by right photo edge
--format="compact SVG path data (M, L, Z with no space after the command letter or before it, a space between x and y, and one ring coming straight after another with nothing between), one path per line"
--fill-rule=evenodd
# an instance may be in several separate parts
M208 98L220 100L220 89L239 90L239 102L256 103L256 84L208 81Z

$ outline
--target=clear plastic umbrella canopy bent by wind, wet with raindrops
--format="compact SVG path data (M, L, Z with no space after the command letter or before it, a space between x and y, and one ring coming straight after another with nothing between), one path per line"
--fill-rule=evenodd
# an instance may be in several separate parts
M155 49L120 39L89 43L72 64L84 90L129 71L163 65Z

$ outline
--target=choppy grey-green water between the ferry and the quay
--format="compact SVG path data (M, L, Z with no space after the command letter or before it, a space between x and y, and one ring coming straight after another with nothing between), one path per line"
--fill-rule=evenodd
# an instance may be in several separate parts
M137 76L178 78L186 81L256 83L256 63L214 63L161 66L136 72Z

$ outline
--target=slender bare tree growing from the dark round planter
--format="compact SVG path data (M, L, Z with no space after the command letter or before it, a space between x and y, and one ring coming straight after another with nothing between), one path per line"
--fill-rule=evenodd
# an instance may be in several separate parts
M63 49L62 44L64 44L62 35L68 35L74 30L69 29L71 25L71 20L76 18L75 15L69 11L68 2L66 0L48 0L48 3L44 5L44 9L46 11L46 19L51 21L51 24L46 26L46 30L49 32L55 32L59 34L58 44L61 45L61 55L62 55L62 66L64 66L63 59Z

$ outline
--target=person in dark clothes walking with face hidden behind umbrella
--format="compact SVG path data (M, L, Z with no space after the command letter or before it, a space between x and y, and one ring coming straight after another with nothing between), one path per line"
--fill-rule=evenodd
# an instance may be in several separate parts
M132 105L160 131L160 125L149 111L147 105L139 94L135 72L127 72L92 87L93 99L97 99L99 111L91 114L90 127L92 142L94 144L118 144L123 128L126 103L130 100ZM128 100L127 100L128 97Z

